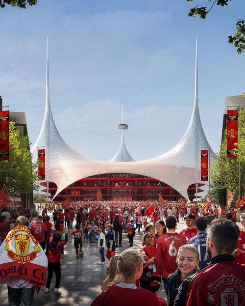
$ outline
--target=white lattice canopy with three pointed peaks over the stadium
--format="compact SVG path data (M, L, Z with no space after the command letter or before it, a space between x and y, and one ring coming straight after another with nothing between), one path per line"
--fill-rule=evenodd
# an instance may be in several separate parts
M129 173L156 179L171 186L187 200L188 188L200 181L200 150L209 150L210 165L214 153L204 134L198 106L197 47L195 72L195 101L190 124L179 143L169 152L155 158L134 161L129 155L122 133L118 153L111 161L86 157L74 151L60 136L51 112L49 101L49 58L47 47L46 108L42 129L31 152L36 147L46 149L46 181L56 184L53 198L76 181L105 173Z

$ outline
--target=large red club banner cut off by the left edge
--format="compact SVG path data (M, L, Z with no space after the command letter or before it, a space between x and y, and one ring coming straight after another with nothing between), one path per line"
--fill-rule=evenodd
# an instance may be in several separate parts
M9 160L9 111L0 111L0 161Z

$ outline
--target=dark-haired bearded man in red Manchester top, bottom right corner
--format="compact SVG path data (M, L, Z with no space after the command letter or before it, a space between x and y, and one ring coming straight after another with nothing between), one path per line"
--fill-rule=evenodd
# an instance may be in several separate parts
M245 267L233 256L239 228L221 218L214 220L209 229L206 249L211 264L191 282L186 306L245 305Z

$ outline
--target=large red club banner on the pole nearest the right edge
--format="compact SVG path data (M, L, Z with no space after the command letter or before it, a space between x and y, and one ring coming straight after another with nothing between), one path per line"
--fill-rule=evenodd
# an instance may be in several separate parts
M238 111L227 110L227 157L236 158L234 149L237 149L238 142Z

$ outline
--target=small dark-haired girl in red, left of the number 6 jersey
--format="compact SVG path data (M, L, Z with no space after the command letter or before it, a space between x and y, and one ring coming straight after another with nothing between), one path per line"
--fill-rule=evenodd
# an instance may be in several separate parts
M140 286L153 293L160 292L161 276L156 273L155 267L155 247L154 239L151 233L146 233L142 237L143 249L141 253L144 256L143 274L140 278Z

